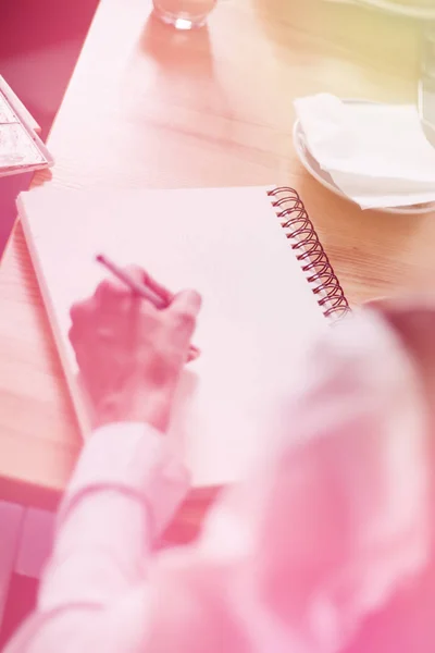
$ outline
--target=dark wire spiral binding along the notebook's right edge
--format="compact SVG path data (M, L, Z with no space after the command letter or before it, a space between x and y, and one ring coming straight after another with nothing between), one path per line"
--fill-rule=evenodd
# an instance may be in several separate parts
M330 259L322 247L302 200L294 188L281 187L269 190L272 205L278 209L277 217L287 238L295 241L291 248L299 251L297 259L308 274L319 305L326 317L343 318L350 312L349 303L339 284Z

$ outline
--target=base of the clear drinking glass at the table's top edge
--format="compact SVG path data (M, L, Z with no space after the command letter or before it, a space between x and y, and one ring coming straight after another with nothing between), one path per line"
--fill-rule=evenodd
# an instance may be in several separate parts
M153 0L154 13L176 29L202 27L217 0Z

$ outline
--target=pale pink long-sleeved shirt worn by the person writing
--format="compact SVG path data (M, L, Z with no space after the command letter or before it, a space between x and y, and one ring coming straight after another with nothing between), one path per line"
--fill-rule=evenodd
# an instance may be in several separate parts
M66 498L39 614L8 653L343 650L427 560L425 415L414 362L381 317L334 328L308 356L261 467L225 493L198 543L160 554L147 576L158 513L171 513L156 510L158 485L148 494L147 432L128 427L125 454L121 428L113 448L101 433ZM380 650L399 650L394 616L386 624Z

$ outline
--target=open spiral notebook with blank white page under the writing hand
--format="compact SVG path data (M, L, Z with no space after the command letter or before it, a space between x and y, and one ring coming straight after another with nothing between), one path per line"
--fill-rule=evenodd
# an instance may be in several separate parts
M313 335L348 303L291 188L24 193L18 209L83 434L92 407L70 308L107 272L103 251L171 289L197 288L200 358L186 367L169 439L198 486L243 477L268 447ZM284 424L284 428L285 424ZM290 424L288 426L290 429Z

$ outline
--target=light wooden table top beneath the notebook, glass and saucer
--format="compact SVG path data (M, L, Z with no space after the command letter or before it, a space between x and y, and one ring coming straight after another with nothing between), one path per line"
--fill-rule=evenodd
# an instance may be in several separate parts
M297 96L412 101L418 25L321 0L221 0L191 34L149 13L101 0L50 135L57 165L35 184L290 184L351 303L431 279L434 215L361 212L310 180L291 145ZM0 271L0 498L53 507L79 447L18 224Z

